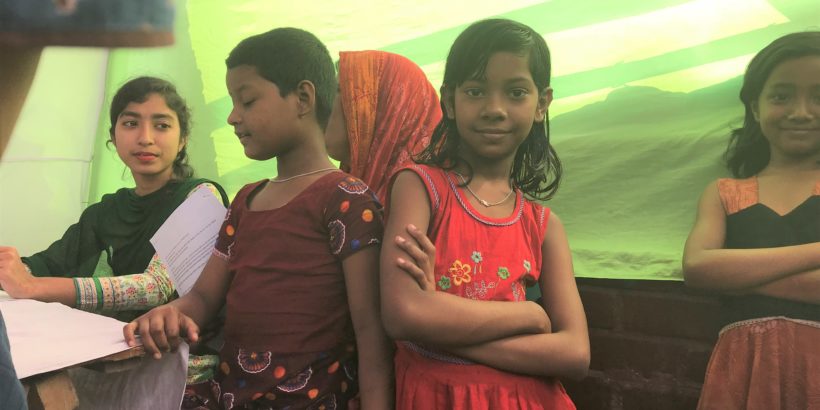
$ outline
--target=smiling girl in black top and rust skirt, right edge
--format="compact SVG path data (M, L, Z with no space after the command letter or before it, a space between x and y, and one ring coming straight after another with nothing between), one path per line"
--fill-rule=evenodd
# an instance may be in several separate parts
M683 257L686 283L729 294L701 409L820 408L820 32L749 64L735 178L710 184Z

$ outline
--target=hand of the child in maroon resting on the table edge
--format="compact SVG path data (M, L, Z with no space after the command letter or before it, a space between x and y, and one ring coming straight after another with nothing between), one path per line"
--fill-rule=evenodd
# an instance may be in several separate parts
M136 346L135 336L138 333L142 344L155 359L162 357L162 352L175 352L182 341L180 335L190 343L199 340L199 326L176 306L163 305L134 319L122 329L128 346Z

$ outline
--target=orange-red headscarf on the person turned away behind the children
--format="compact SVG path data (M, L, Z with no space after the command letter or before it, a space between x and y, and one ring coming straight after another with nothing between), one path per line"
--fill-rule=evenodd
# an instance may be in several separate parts
M339 98L350 143L341 168L384 202L394 172L411 161L441 119L438 95L412 61L384 51L339 55Z

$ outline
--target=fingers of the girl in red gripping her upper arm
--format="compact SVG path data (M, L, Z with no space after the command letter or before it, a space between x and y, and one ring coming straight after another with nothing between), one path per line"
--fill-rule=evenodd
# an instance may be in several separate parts
M424 232L415 225L407 225L405 228L410 239L403 236L396 236L396 245L399 249L410 255L411 260L397 258L396 264L403 271L407 272L418 282L422 290L428 292L436 291L435 264L436 247L427 238Z

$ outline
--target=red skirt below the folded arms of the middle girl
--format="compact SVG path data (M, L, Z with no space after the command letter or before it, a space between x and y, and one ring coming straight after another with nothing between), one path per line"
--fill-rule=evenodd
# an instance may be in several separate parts
M396 409L575 409L561 382L554 378L524 376L452 359L433 358L423 350L398 343Z

